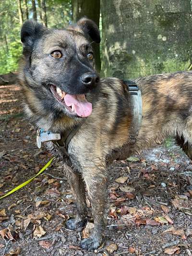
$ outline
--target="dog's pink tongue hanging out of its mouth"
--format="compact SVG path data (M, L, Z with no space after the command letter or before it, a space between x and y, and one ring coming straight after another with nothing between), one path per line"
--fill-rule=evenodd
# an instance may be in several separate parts
M73 109L78 116L87 117L92 112L92 104L86 100L84 94L66 94L64 101L68 107L72 107L73 105Z

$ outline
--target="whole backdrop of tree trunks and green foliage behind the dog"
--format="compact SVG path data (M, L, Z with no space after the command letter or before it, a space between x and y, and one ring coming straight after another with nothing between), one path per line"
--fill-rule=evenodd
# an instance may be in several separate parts
M82 16L100 24L100 49L93 45L102 76L132 79L192 63L191 0L1 0L0 74L18 68L26 19L64 28Z

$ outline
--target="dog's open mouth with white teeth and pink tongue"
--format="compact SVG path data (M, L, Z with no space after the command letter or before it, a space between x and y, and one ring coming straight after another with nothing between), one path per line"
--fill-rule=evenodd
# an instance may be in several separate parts
M73 115L87 117L92 112L92 104L88 102L84 94L70 95L62 91L58 86L50 85L53 96Z

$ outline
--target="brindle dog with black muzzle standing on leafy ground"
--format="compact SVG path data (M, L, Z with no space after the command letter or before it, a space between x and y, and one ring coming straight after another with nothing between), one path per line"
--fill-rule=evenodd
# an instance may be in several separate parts
M68 229L83 227L86 222L86 186L95 229L81 246L93 250L102 244L106 226L111 160L127 158L170 135L192 159L192 72L135 80L142 94L143 119L132 143L130 92L118 78L100 80L90 39L99 43L99 30L86 18L65 30L27 21L21 31L24 50L19 81L24 110L37 127L63 133L82 123L67 155L52 142L48 147L60 156L76 198L77 216L68 220Z

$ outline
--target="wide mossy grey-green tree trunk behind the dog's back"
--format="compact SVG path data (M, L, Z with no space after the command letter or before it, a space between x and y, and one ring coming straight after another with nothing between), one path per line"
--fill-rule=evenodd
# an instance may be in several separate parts
M190 0L101 0L102 75L123 79L187 70Z

